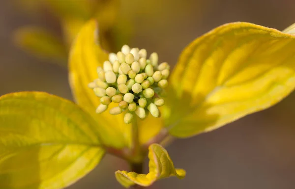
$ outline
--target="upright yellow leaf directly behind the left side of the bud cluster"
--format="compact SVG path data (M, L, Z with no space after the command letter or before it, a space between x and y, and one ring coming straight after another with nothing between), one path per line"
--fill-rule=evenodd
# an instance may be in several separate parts
M111 115L108 111L96 114L100 100L88 83L98 78L97 67L108 59L98 41L98 28L94 20L89 21L79 32L72 45L69 57L69 81L76 102L86 109L100 125L102 141L107 146L123 148L130 146L131 124L123 122L123 114ZM111 103L109 109L118 106Z

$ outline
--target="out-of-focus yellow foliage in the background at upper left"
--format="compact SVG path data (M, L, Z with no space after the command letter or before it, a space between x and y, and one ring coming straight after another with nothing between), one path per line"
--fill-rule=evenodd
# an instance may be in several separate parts
M27 12L35 10L38 16L49 12L57 18L61 27L61 36L56 31L38 26L18 28L14 42L21 49L36 57L49 59L59 65L67 65L67 54L72 41L81 27L90 19L100 23L100 37L104 49L116 49L121 39L114 38L114 30L120 31L120 37L126 33L118 25L119 0L17 0ZM35 15L34 15L35 16ZM125 22L125 21L122 21Z

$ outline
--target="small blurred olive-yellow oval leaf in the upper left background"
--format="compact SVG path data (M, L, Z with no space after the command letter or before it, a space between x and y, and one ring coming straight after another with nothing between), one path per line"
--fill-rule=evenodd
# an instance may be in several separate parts
M22 27L15 31L13 38L16 45L28 53L66 65L66 47L53 33L40 27Z

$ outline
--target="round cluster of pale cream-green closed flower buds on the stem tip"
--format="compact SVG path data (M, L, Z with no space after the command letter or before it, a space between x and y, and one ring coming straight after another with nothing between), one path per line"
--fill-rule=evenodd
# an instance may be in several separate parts
M158 107L165 103L160 96L168 85L169 73L167 62L158 64L157 53L147 59L145 49L124 45L117 54L109 54L109 60L97 68L98 79L89 83L89 88L100 97L96 112L102 113L114 102L118 107L110 109L110 113L125 112L126 124L132 122L134 115L144 119L150 112L158 117Z

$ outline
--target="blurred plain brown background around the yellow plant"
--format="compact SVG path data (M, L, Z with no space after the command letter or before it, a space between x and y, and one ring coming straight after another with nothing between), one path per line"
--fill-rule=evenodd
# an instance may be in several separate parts
M131 47L158 52L174 65L193 39L221 24L244 21L284 29L295 23L294 0L122 0L120 14L134 29ZM25 25L59 30L55 20L28 15L13 3L0 5L0 95L47 91L72 99L66 69L16 48L12 32ZM167 147L184 180L170 178L152 189L294 189L295 94L273 108L249 115L211 133ZM121 189L114 172L125 162L106 158L69 189Z

